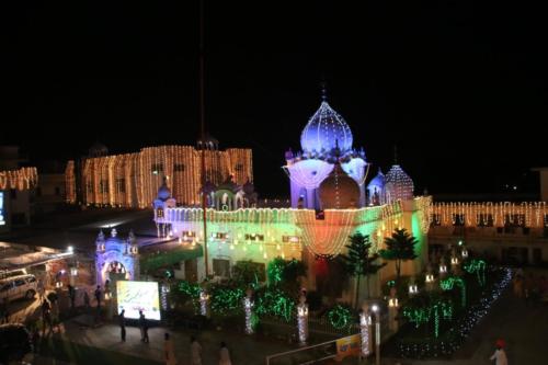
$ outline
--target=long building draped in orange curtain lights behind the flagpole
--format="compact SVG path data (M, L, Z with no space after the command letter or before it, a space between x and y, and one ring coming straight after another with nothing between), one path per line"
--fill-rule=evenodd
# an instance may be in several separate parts
M67 202L94 206L150 207L165 181L179 205L199 205L201 149L206 157L206 179L214 185L232 176L238 185L253 181L251 149L217 149L209 138L191 146L159 146L139 152L106 155L96 145L88 158L66 168ZM80 195L80 196L79 196Z

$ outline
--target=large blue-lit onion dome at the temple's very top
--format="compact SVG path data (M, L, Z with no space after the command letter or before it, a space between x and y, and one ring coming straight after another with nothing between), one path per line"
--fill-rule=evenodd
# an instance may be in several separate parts
M300 147L302 151L310 153L330 152L339 147L344 153L352 149L352 132L343 117L323 101L302 129Z

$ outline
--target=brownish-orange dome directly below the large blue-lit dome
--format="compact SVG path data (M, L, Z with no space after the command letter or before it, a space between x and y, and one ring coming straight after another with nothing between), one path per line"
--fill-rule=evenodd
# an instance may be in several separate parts
M355 208L359 203L359 186L339 162L320 184L320 201L323 209Z

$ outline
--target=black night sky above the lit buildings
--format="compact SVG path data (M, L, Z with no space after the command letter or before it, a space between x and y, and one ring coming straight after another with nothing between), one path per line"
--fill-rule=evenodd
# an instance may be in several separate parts
M207 128L221 148L253 149L262 196L288 194L284 151L324 78L375 172L397 145L418 192L534 190L529 168L548 166L548 30L532 7L206 1ZM95 140L194 145L197 0L10 1L0 13L1 144L33 163Z

